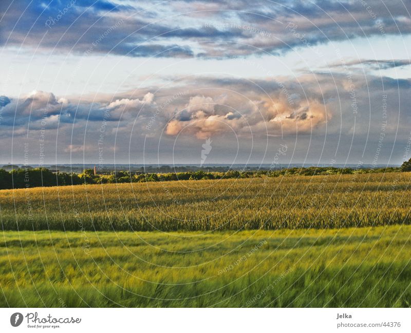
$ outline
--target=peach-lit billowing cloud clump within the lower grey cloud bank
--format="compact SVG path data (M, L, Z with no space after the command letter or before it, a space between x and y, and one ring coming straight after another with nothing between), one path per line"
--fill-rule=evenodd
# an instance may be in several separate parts
M218 83L212 85L217 86ZM267 130L273 135L304 133L324 125L332 118L332 112L327 114L325 103L314 94L306 101L293 101L290 104L274 85L266 88L271 90L271 94L265 96L259 91L253 94L253 101L245 101L235 94L192 96L189 103L167 123L165 132L171 136L181 134L197 139L231 131L239 136L248 136L250 133L266 135ZM250 84L242 89L250 89ZM217 100L224 100L228 105L221 105Z

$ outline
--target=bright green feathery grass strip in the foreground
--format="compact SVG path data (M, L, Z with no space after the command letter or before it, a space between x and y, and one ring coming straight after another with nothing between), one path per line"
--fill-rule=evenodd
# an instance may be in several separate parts
M4 231L0 306L408 307L410 235Z

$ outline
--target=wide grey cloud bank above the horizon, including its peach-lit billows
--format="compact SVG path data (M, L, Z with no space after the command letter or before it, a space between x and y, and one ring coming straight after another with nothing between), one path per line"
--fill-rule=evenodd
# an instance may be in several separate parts
M269 147L276 147L278 140L290 147L296 145L296 163L304 161L308 150L312 158L322 152L334 153L337 147L338 153L346 158L344 154L351 144L350 161L362 159L365 148L366 161L367 152L372 158L378 148L375 133L381 133L386 120L380 161L392 156L399 163L402 143L409 135L411 113L407 106L411 104L411 80L364 76L355 71L351 80L357 110L352 106L344 73L254 80L188 76L174 78L173 85L88 99L33 91L3 99L10 102L2 108L0 138L5 149L13 147L13 160L24 156L19 149L24 147L27 137L30 151L38 154L40 134L45 128L45 150L54 162L56 151L59 161L67 161L67 156L72 161L98 161L98 142L102 140L106 163L113 163L114 159L117 163L142 163L144 153L156 152L151 157L156 159L158 150L161 158L168 156L170 163L174 149L184 151L184 156L194 156L208 138L213 138L213 152L221 151L221 161L225 158L223 151L230 151L237 144L238 156L243 160L249 154L245 147L251 143L253 149L264 154L267 140L274 140ZM181 91L186 93L179 94ZM387 115L383 119L385 95ZM137 112L122 112L124 109ZM81 150L84 145L88 147L85 152ZM7 154L5 151L4 156Z

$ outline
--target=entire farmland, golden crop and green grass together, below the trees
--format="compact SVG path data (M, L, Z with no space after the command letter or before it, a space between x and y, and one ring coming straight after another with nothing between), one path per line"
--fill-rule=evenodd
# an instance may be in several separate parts
M3 190L0 306L409 307L410 175Z

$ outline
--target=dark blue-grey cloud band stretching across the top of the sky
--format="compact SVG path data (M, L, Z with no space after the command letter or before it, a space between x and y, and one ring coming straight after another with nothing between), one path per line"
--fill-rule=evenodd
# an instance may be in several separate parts
M411 33L406 3L400 0L183 0L150 9L86 1L68 8L47 29L47 19L54 20L62 9L56 1L47 6L28 0L2 2L0 44L80 54L91 50L134 57L233 57Z

